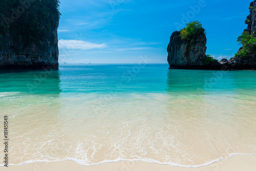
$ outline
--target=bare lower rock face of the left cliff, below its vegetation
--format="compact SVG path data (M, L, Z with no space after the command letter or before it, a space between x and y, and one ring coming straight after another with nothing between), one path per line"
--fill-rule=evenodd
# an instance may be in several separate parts
M51 34L49 39L30 46L25 46L21 39L14 41L10 34L0 35L4 42L0 48L0 68L58 68L57 28Z

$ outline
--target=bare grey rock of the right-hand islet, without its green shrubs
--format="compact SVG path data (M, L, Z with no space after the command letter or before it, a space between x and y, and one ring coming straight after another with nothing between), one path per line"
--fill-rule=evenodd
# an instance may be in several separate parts
M248 25L244 33L253 35L256 40L256 0L250 4L250 14L247 16L245 24ZM182 30L181 30L182 31ZM217 69L217 70L256 70L256 44L248 49L247 56L235 56L221 61L212 61L205 63L206 37L204 32L196 36L190 37L188 40L183 39L181 31L175 31L170 37L170 42L167 47L168 63L170 69ZM241 47L238 54L243 50Z

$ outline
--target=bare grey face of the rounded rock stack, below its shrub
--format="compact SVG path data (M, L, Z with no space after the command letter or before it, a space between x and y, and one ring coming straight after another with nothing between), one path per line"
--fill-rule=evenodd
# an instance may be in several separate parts
M206 36L202 32L190 40L182 40L180 32L175 31L167 47L170 68L193 69L205 65Z

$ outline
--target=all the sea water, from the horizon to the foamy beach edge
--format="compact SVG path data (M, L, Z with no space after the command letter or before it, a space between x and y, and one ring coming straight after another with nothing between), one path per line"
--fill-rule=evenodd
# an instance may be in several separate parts
M142 160L197 167L255 154L255 78L255 71L136 64L1 71L10 163Z

